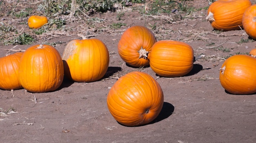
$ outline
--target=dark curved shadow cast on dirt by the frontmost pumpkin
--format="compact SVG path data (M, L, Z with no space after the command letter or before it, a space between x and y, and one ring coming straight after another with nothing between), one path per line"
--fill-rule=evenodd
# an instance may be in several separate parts
M126 127L146 126L146 125L154 124L154 123L157 123L159 121L162 121L162 120L168 118L169 116L171 116L173 114L173 111L174 111L174 106L172 104L168 103L168 102L164 102L162 110L160 111L159 115L153 121L151 121L148 124L143 124L143 125L139 125L139 126L126 126L124 124L119 123L118 121L117 121L117 123L122 125L122 126L126 126Z

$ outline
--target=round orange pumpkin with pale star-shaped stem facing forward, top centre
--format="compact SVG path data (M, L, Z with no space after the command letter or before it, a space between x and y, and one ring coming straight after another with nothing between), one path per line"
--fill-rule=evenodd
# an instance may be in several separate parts
M150 29L144 26L132 26L121 36L118 53L131 66L146 66L149 65L151 47L156 41Z

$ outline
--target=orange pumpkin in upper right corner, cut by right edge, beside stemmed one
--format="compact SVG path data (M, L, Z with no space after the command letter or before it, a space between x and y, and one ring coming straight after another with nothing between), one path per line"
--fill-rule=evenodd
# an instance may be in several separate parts
M256 39L256 4L249 6L243 14L243 27L247 35Z

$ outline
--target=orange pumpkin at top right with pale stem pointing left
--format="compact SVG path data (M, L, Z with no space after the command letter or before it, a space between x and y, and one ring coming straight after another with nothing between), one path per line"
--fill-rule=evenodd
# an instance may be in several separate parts
M243 13L251 5L250 0L217 0L209 6L206 19L215 30L240 30Z

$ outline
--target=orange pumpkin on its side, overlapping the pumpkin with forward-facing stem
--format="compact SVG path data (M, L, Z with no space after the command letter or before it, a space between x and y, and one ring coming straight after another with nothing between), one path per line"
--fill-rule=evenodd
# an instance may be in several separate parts
M193 69L193 48L180 41L157 41L151 50L150 67L163 77L179 77Z

